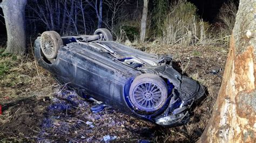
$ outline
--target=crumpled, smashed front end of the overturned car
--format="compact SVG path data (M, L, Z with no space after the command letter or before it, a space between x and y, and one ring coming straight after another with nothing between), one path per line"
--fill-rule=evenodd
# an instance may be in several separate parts
M190 77L181 75L172 66L140 68L144 73L153 73L165 78L171 92L170 102L165 111L154 117L154 122L161 126L184 125L190 120L190 110L205 95L205 88Z

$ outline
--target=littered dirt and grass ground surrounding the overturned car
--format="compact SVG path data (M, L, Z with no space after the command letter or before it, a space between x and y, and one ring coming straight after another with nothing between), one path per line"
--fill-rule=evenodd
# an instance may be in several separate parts
M38 67L33 55L0 57L0 141L131 141L198 140L211 116L221 84L227 47L134 45L154 54L173 55L173 66L207 88L207 97L191 112L188 124L165 128L114 109L92 113L96 103L76 94L68 85L58 85ZM30 47L30 53L32 48ZM1 49L3 51L3 49Z

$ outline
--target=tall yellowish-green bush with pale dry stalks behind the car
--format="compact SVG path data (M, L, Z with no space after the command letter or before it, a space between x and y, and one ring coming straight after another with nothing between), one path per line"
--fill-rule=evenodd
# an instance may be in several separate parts
M163 41L167 44L205 44L209 27L197 17L197 8L187 1L171 4L170 12L164 21Z

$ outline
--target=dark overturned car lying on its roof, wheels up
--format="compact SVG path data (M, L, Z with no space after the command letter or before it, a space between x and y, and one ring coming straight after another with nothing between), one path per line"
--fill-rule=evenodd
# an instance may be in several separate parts
M191 105L204 95L203 86L173 69L171 56L114 42L105 28L70 37L46 31L35 41L35 56L79 94L161 126L186 124Z

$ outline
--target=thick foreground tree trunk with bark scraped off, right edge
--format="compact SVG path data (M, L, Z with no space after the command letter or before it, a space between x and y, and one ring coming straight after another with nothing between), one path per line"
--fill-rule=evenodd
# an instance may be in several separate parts
M255 142L255 6L240 0L219 96L199 142Z

